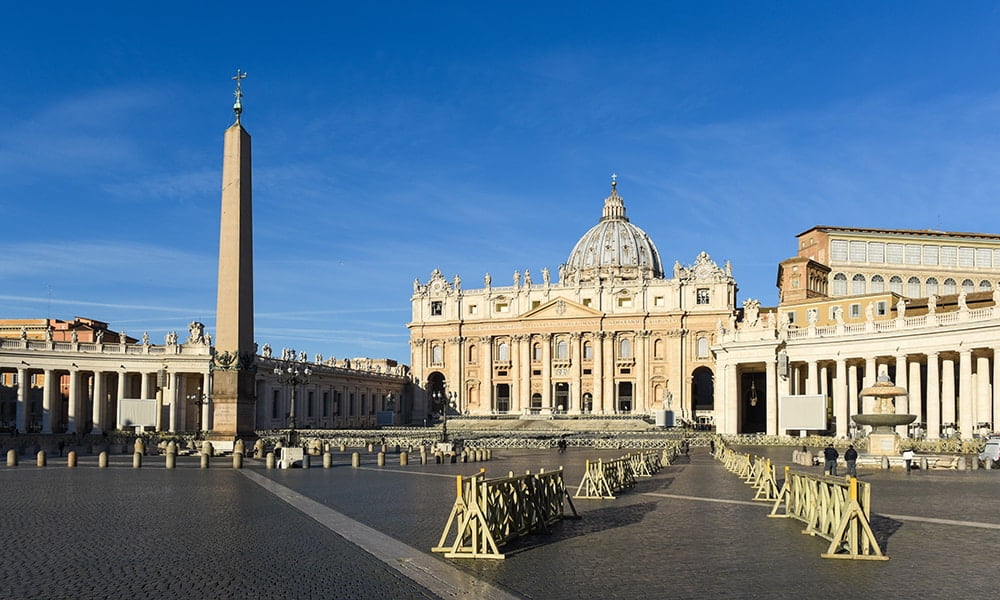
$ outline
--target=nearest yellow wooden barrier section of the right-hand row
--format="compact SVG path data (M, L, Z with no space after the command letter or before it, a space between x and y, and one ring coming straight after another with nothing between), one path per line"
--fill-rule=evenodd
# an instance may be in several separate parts
M871 484L854 477L844 481L785 467L785 483L768 516L798 519L806 524L802 533L830 540L823 558L889 560L871 528Z

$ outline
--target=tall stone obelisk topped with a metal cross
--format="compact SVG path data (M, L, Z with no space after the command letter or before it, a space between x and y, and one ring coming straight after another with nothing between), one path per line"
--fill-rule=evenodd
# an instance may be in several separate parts
M250 134L240 123L241 81L236 71L236 122L226 130L222 159L219 290L212 355L212 422L209 439L254 435L253 194Z

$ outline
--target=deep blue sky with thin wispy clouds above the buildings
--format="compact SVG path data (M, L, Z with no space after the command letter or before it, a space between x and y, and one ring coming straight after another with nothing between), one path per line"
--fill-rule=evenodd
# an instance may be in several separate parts
M985 2L17 3L0 317L214 329L253 136L256 338L409 362L414 277L557 272L619 175L664 264L776 303L813 225L1000 233Z

